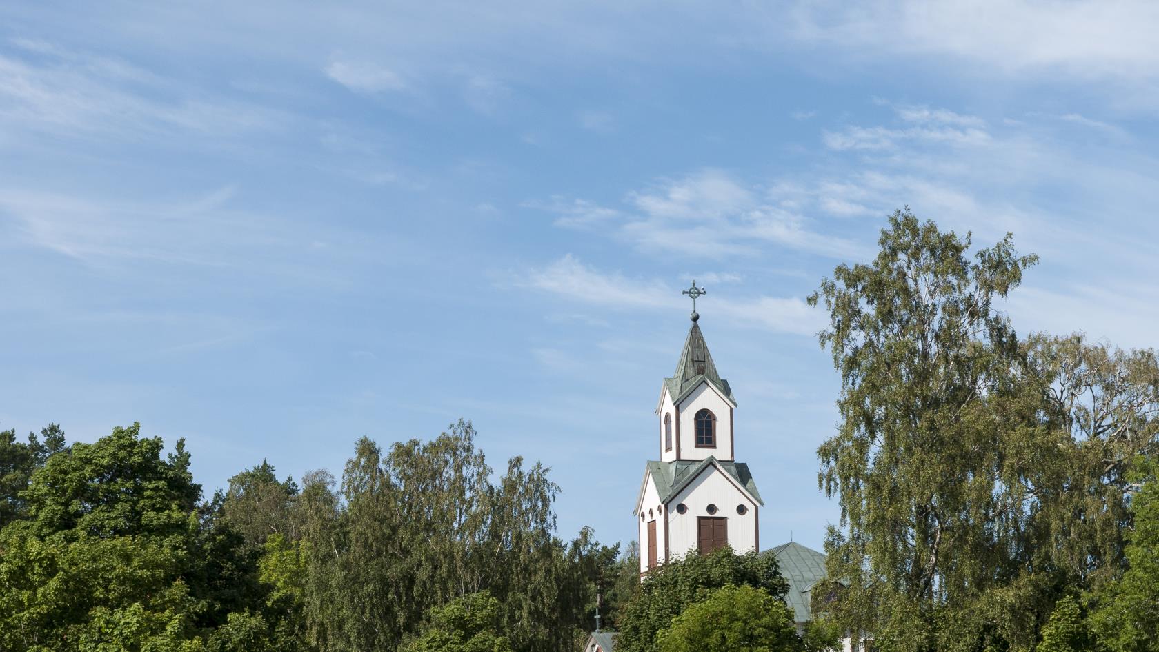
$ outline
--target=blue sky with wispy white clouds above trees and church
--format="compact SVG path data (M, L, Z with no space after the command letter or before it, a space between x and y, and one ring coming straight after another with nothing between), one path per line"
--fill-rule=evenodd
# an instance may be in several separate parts
M804 297L910 204L1042 263L1020 332L1154 345L1147 2L0 5L0 427L268 458L474 421L634 536L700 304L761 543L819 548Z

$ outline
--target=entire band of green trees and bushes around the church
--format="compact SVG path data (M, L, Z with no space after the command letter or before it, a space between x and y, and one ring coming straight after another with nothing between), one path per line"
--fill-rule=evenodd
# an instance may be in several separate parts
M0 650L531 652L593 622L619 652L1159 652L1159 361L1003 311L1037 259L909 209L810 303L841 377L818 485L840 506L796 632L768 555L644 582L639 549L556 534L539 464L460 421L362 439L340 478L263 462L204 500L139 426L0 433Z

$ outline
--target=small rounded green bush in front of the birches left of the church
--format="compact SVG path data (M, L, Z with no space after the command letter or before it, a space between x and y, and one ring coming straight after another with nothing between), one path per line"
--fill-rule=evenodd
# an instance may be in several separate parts
M432 609L427 625L402 652L511 652L500 630L500 602L480 592Z

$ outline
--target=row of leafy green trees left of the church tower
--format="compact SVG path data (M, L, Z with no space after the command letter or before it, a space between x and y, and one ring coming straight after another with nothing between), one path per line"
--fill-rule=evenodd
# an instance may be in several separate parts
M547 470L493 481L474 437L363 439L341 480L263 462L203 500L139 425L0 433L0 650L570 650L597 593L614 625L633 552L560 539Z

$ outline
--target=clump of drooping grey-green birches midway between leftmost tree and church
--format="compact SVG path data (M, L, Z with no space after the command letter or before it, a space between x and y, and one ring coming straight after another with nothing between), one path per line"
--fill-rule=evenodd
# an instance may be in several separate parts
M509 462L496 483L460 421L387 455L360 440L338 491L304 483L311 553L307 639L333 651L392 650L430 609L489 591L516 650L569 647L591 626L603 548L583 530L553 536L559 487L547 470Z

